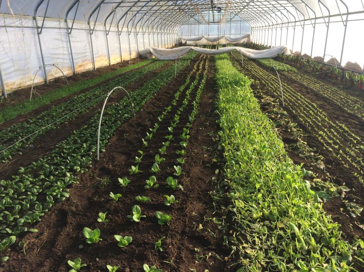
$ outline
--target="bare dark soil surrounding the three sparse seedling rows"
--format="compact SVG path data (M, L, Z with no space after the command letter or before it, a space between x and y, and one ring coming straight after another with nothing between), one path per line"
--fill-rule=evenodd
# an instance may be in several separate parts
M212 65L210 63L210 67ZM10 259L5 263L4 271L68 271L70 267L66 261L76 257L81 257L83 263L87 263L83 271L106 271L107 264L119 265L119 271L142 271L144 263L156 265L163 271L230 271L224 261L229 253L218 246L218 231L207 221L208 217L214 216L209 192L214 189L211 180L217 167L213 164L217 143L211 135L218 131L213 103L216 94L213 88L215 69L210 70L207 88L201 95L199 116L190 129L191 137L185 150L186 162L178 178L183 191L166 188L165 178L172 175L173 165L179 157L175 151L179 147L182 127L192 110L191 102L181 113L174 139L163 155L166 161L160 165L161 171L156 174L160 187L149 190L143 188L145 179L152 175L149 169L154 162L154 154L158 153L158 148L165 141L166 128L183 98L162 121L157 133L149 140L148 147L144 148L145 155L139 164L143 172L130 175L128 169L135 165L133 158L139 155L138 150L143 149L141 138L149 131L163 108L170 105L173 93L183 84L186 76L178 77L159 91L156 98L150 100L137 114L136 119L127 121L116 132L106 146L106 151L101 154L100 161L88 173L80 175L80 182L70 188L70 197L51 208L35 226L39 230L37 233L23 237L26 241L25 253L16 245L6 253ZM191 99L194 99L196 90L195 87ZM181 96L184 97L183 93ZM132 182L127 187L120 187L117 185L118 177L128 177ZM110 182L101 186L100 182L102 179L105 181L105 178L109 178ZM110 192L123 196L113 202L109 197ZM173 194L179 203L164 206L165 194ZM149 196L152 201L138 203L135 201L138 195ZM131 214L135 204L147 215L140 223L130 222L126 217ZM98 223L98 212L106 211L110 222ZM155 211L173 216L169 226L157 224ZM103 240L86 244L82 235L83 227L98 227ZM132 236L133 241L127 247L119 248L114 234ZM154 243L162 237L165 237L162 242L164 251L159 252L154 249ZM80 249L79 245L83 245L83 248Z

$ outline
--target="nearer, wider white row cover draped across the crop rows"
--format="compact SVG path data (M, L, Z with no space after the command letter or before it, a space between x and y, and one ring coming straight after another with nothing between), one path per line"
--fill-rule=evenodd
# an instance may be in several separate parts
M279 54L286 54L290 55L291 52L287 46L281 45L274 48L269 48L265 50L254 50L239 46L230 46L230 47L223 47L220 49L207 49L207 48L200 48L195 46L182 46L173 49L163 49L163 48L156 48L156 47L149 47L139 52L139 56L141 58L152 58L153 56L156 57L158 60L175 60L181 58L182 56L186 55L189 51L195 50L201 54L215 56L221 55L225 53L229 53L233 50L239 51L243 56L249 59L264 59L264 58L274 58L277 57Z

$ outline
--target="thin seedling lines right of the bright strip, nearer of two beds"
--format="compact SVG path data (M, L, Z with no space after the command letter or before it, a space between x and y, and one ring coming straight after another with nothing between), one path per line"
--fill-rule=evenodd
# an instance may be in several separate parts
M237 60L241 59L241 56L236 53L233 53L233 56ZM256 63L246 59L243 69L247 69L251 74L259 77L262 85L268 86L268 72ZM270 78L270 85L270 90L280 96L281 91L277 77L272 76ZM343 166L351 166L353 174L357 176L359 181L364 182L361 178L364 173L364 162L361 158L364 150L363 140L345 125L332 120L323 110L284 82L282 82L282 89L284 105L319 139L332 156L340 160Z

